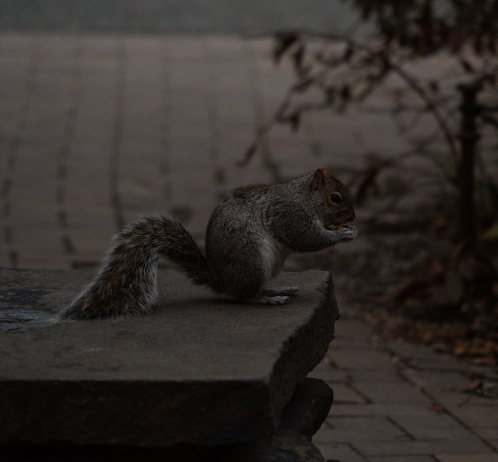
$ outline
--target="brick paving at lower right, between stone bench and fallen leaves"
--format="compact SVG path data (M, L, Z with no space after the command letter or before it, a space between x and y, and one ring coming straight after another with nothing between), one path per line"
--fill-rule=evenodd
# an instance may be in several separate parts
M497 400L463 392L472 374L486 372L427 347L373 348L371 327L341 318L311 374L334 389L313 441L343 462L498 461Z

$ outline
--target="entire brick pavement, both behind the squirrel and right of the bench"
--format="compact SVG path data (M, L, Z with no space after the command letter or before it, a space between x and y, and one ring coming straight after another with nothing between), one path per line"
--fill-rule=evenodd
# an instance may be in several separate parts
M366 153L406 148L385 136L388 116L351 110L277 128L235 167L292 81L269 49L231 36L0 34L0 266L95 268L119 226L147 212L178 216L202 245L235 186L322 165L344 177ZM462 393L470 366L373 348L347 316L336 331L313 372L335 390L314 440L326 458L498 461L498 403Z

